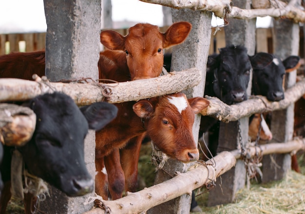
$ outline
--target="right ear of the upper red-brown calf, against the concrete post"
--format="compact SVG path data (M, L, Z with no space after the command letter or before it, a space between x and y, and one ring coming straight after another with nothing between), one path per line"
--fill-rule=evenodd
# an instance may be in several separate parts
M163 48L181 44L191 32L191 23L186 21L173 23L163 34Z

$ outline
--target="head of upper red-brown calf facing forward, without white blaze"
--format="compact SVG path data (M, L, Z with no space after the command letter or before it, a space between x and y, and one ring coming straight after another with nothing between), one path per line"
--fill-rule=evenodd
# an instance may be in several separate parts
M131 80L159 76L163 68L163 49L182 43L191 31L189 22L172 24L165 33L159 27L139 23L129 29L127 36L115 31L102 31L101 43L110 50L124 51Z

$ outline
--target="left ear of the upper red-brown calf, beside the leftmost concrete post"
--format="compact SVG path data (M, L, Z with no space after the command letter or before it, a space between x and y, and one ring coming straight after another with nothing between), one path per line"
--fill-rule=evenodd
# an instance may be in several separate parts
M100 33L100 42L110 50L125 51L125 37L115 31L102 31Z

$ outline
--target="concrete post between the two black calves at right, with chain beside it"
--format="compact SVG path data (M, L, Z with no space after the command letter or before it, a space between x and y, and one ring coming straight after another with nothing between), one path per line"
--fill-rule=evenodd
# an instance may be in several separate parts
M251 0L234 0L234 6L244 9L250 9ZM254 19L234 19L229 18L229 25L225 26L226 46L242 45L248 50L248 55L255 53L255 30L256 18ZM252 73L248 84L247 93L251 94ZM238 132L240 128L241 139ZM240 119L238 122L230 122L228 124L220 123L219 140L217 152L224 150L234 150L243 146L248 142L248 117ZM224 175L223 179L216 180L216 187L210 190L208 206L225 204L233 202L236 192L245 186L246 168L242 160L237 160L235 167L230 169Z

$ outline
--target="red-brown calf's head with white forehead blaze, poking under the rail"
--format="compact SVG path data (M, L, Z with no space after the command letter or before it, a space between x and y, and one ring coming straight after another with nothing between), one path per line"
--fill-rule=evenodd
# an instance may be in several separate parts
M147 133L162 152L171 158L190 162L199 158L192 134L194 114L209 104L205 98L188 100L185 94L176 93L141 100L133 105L133 110L141 118L150 118Z

